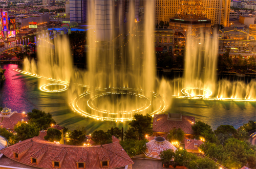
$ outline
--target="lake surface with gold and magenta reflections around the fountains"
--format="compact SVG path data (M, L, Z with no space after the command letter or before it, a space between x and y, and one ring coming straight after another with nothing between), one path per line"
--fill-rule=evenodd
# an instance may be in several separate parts
M18 112L29 112L33 108L51 112L54 120L61 126L73 130L77 126L86 127L88 134L94 130L104 131L113 127L124 127L128 123L101 122L75 114L64 99L64 93L45 93L38 89L37 78L25 76L12 69L17 65L1 65L6 69L6 80L1 86L1 106ZM216 129L221 124L233 125L235 128L255 120L256 102L207 101L174 99L170 112L195 116ZM166 112L165 112L166 113Z

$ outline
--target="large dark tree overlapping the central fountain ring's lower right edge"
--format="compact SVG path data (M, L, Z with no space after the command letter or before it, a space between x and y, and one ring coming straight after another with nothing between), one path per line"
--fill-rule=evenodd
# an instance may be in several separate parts
M145 116L136 114L134 119L129 125L133 127L134 131L138 132L139 140L145 137L145 135L152 135L153 128L152 125L152 116L146 114ZM125 136L126 137L126 136Z

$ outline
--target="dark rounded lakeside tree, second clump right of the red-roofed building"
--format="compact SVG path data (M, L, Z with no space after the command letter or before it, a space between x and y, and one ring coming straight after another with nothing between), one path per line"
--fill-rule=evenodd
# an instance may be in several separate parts
M220 125L214 131L214 133L220 140L220 143L223 145L228 138L232 138L235 134L237 134L237 130L230 125Z

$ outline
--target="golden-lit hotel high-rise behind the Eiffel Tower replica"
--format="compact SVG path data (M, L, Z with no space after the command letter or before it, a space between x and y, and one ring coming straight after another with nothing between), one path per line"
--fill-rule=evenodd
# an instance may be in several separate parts
M184 0L183 0L184 1ZM160 21L169 21L169 18L175 17L182 0L156 0L156 24ZM211 19L212 24L229 25L229 11L231 0L201 0L203 3L205 15Z

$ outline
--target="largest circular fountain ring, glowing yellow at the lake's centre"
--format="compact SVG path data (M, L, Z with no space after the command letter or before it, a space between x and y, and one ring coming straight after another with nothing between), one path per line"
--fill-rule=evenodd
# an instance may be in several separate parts
M130 89L130 88L113 88L113 89L100 89L95 91L84 92L71 102L71 108L82 114L83 116L94 118L101 121L130 121L133 119L134 114L158 114L166 109L164 99L153 92L148 92L148 96L144 96L143 90ZM96 98L106 95L130 95L132 97L139 97L143 99L144 103L140 107L130 107L131 110L113 111L109 109L102 109L93 104ZM91 96L92 95L92 96ZM86 103L85 103L86 102Z

